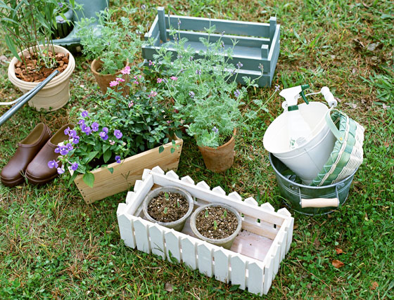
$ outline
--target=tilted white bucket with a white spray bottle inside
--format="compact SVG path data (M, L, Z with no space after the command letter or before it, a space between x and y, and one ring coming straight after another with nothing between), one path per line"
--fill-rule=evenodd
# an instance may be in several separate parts
M263 138L264 148L297 174L303 184L310 185L322 170L333 150L336 138L326 124L329 108L323 103L308 103L305 96L322 93L329 106L337 102L329 88L304 94L309 85L294 86L279 93L286 101L284 112L269 125ZM298 98L305 103L298 105Z

